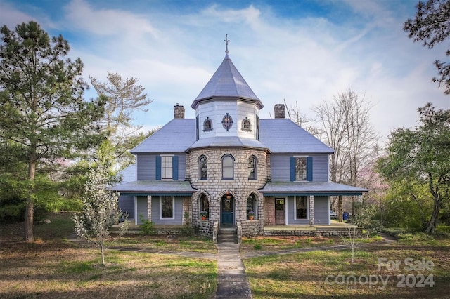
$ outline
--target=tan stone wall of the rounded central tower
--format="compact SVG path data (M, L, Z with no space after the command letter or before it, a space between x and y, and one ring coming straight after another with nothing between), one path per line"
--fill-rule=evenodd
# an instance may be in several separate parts
M233 180L222 180L221 158L225 154L230 154L234 158L234 178ZM198 159L200 156L207 157L208 178L199 180L200 169ZM257 180L248 179L248 159L251 155L257 157ZM264 232L264 199L259 188L270 177L269 155L264 150L259 149L224 149L205 148L193 150L186 157L186 179L191 181L192 187L198 189L192 197L192 217L193 224L198 223L200 216L198 199L201 194L205 194L210 204L210 215L208 220L212 226L214 220L221 223L221 198L229 192L234 199L235 223L240 221L243 228L243 235L263 234ZM250 194L257 197L257 218L247 220L247 199Z

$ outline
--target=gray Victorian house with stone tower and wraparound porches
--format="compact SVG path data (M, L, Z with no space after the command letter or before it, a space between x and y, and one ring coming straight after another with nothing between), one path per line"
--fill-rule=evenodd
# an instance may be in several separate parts
M264 105L229 57L193 100L195 119L174 118L131 150L122 171L120 207L135 224L242 227L329 225L330 196L368 190L329 180L333 149L285 118L259 119ZM200 213L202 212L202 213ZM250 220L252 219L252 220Z

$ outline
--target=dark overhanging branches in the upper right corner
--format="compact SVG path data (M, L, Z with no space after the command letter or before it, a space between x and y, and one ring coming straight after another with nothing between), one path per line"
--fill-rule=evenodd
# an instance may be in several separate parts
M413 41L423 41L423 46L433 48L435 45L445 41L450 35L450 1L428 0L419 1L416 17L408 19L404 23L404 31L409 32ZM446 51L450 55L450 49ZM439 77L432 78L439 87L444 87L444 93L450 94L450 65L448 62L435 60L435 66Z

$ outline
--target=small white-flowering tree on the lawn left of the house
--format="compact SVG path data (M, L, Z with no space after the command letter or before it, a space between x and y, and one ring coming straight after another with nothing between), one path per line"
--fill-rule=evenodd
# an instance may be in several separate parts
M122 217L119 208L119 193L107 189L111 176L107 166L98 164L91 168L84 184L83 209L76 213L75 232L78 237L93 242L101 249L101 262L105 265L105 241L110 238L110 228ZM128 229L127 216L120 225L120 234Z

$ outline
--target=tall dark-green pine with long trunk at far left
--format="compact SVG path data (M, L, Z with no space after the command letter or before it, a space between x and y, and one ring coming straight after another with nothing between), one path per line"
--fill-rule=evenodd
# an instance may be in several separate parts
M25 241L34 241L37 173L53 171L60 158L76 157L101 140L94 124L103 105L83 100L83 64L63 59L70 50L63 36L50 38L37 22L0 32L0 140L27 165Z

